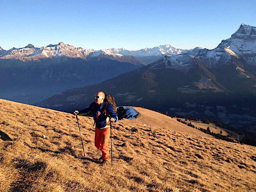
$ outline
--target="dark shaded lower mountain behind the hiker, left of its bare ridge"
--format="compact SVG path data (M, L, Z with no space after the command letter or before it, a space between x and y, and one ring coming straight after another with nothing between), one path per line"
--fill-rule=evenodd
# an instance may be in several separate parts
M177 56L177 60L180 57L182 56ZM180 66L179 62L176 64L172 61L172 56L165 56L148 66L100 84L62 92L36 105L71 112L75 108L88 106L93 94L102 90L114 95L118 105L140 105L162 112L168 111L172 116L186 115L226 121L227 118L217 116L219 108L216 106L233 105L237 98L234 99L234 95L200 61L196 62L196 58L190 56L187 59L189 62ZM191 105L187 105L188 103ZM245 106L241 103L240 108ZM231 109L230 112L233 113L234 110ZM237 118L230 120L232 123L238 121Z

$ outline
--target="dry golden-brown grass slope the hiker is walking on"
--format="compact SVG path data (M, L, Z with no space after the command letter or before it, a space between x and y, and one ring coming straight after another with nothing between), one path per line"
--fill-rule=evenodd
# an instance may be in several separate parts
M75 116L7 100L0 106L0 191L256 190L255 147L189 134L184 124L173 131L175 119L162 127L119 121L113 166L102 167L92 118L79 117L83 157Z

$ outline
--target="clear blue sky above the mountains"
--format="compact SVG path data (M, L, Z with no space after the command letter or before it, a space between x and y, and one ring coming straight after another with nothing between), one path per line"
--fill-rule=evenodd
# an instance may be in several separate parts
M242 23L256 26L255 0L1 1L0 46L213 49Z

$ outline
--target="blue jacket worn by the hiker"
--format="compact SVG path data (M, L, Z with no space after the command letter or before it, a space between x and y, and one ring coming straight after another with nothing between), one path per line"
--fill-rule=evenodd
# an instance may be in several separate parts
M103 101L101 106L98 107L98 105L95 102L92 102L89 105L89 107L84 108L83 110L80 110L79 113L83 114L83 113L88 113L88 112L92 111L93 112L93 119L94 119L94 122L96 124L96 127L99 128L99 129L104 128L106 126L106 124L108 123L106 121L108 116L105 113L104 104L105 104L105 101ZM93 105L94 105L94 107L92 109ZM100 112L100 115L99 115L98 119L96 117L97 111ZM116 122L117 121L116 113L113 111L113 108L109 104L107 105L107 112L108 112L108 115L113 117L115 119L115 122Z

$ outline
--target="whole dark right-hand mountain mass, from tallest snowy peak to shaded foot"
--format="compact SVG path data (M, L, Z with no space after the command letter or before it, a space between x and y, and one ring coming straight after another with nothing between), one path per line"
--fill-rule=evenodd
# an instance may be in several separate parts
M108 79L68 90L37 105L63 111L83 108L97 90L119 105L141 105L172 116L256 124L256 27L242 24L214 49L195 48ZM113 51L114 52L114 51ZM116 51L117 52L117 51Z

